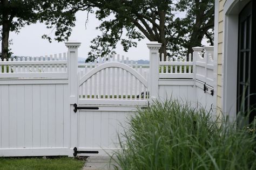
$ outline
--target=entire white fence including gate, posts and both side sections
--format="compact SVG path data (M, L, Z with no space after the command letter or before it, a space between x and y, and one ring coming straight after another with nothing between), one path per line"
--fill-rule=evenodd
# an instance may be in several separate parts
M63 54L0 61L0 156L111 154L130 116L153 100L215 105L213 47L164 61L151 42L148 75L120 55L78 73L80 43L65 45Z

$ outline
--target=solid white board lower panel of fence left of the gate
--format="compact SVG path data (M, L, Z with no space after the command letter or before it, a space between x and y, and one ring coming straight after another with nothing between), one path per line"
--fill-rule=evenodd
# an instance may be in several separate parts
M68 84L0 85L0 156L52 155L45 149L68 148L66 91Z

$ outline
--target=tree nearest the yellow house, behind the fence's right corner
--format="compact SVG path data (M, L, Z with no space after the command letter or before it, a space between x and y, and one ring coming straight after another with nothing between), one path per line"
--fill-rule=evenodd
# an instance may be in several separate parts
M188 31L189 38L184 43L187 55L193 52L192 47L201 46L204 36L213 45L214 0L180 0L176 10L186 12L181 24Z

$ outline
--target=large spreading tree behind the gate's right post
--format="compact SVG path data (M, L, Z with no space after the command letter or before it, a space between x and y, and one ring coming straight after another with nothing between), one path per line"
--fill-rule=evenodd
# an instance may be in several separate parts
M183 44L185 30L173 22L174 14L172 1L166 0L140 0L140 1L91 1L98 7L96 16L103 20L110 15L114 19L104 20L98 27L103 32L92 40L92 51L89 53L89 60L95 56L102 56L110 53L120 40L127 51L130 47L137 46L134 39L147 38L150 41L162 43L160 53L167 55L167 49L171 52L177 51L180 44ZM179 18L176 19L179 22ZM123 33L125 38L122 38Z

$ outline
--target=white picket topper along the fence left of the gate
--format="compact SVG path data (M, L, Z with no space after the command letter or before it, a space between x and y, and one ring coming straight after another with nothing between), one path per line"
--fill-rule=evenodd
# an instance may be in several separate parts
M68 78L66 53L18 58L0 59L1 79L3 78Z

